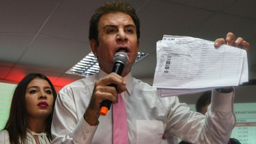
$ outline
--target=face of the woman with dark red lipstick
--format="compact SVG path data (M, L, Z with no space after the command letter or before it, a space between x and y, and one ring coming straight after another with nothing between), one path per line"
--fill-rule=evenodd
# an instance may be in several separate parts
M54 101L50 84L42 78L33 79L26 88L25 100L29 118L47 118Z

